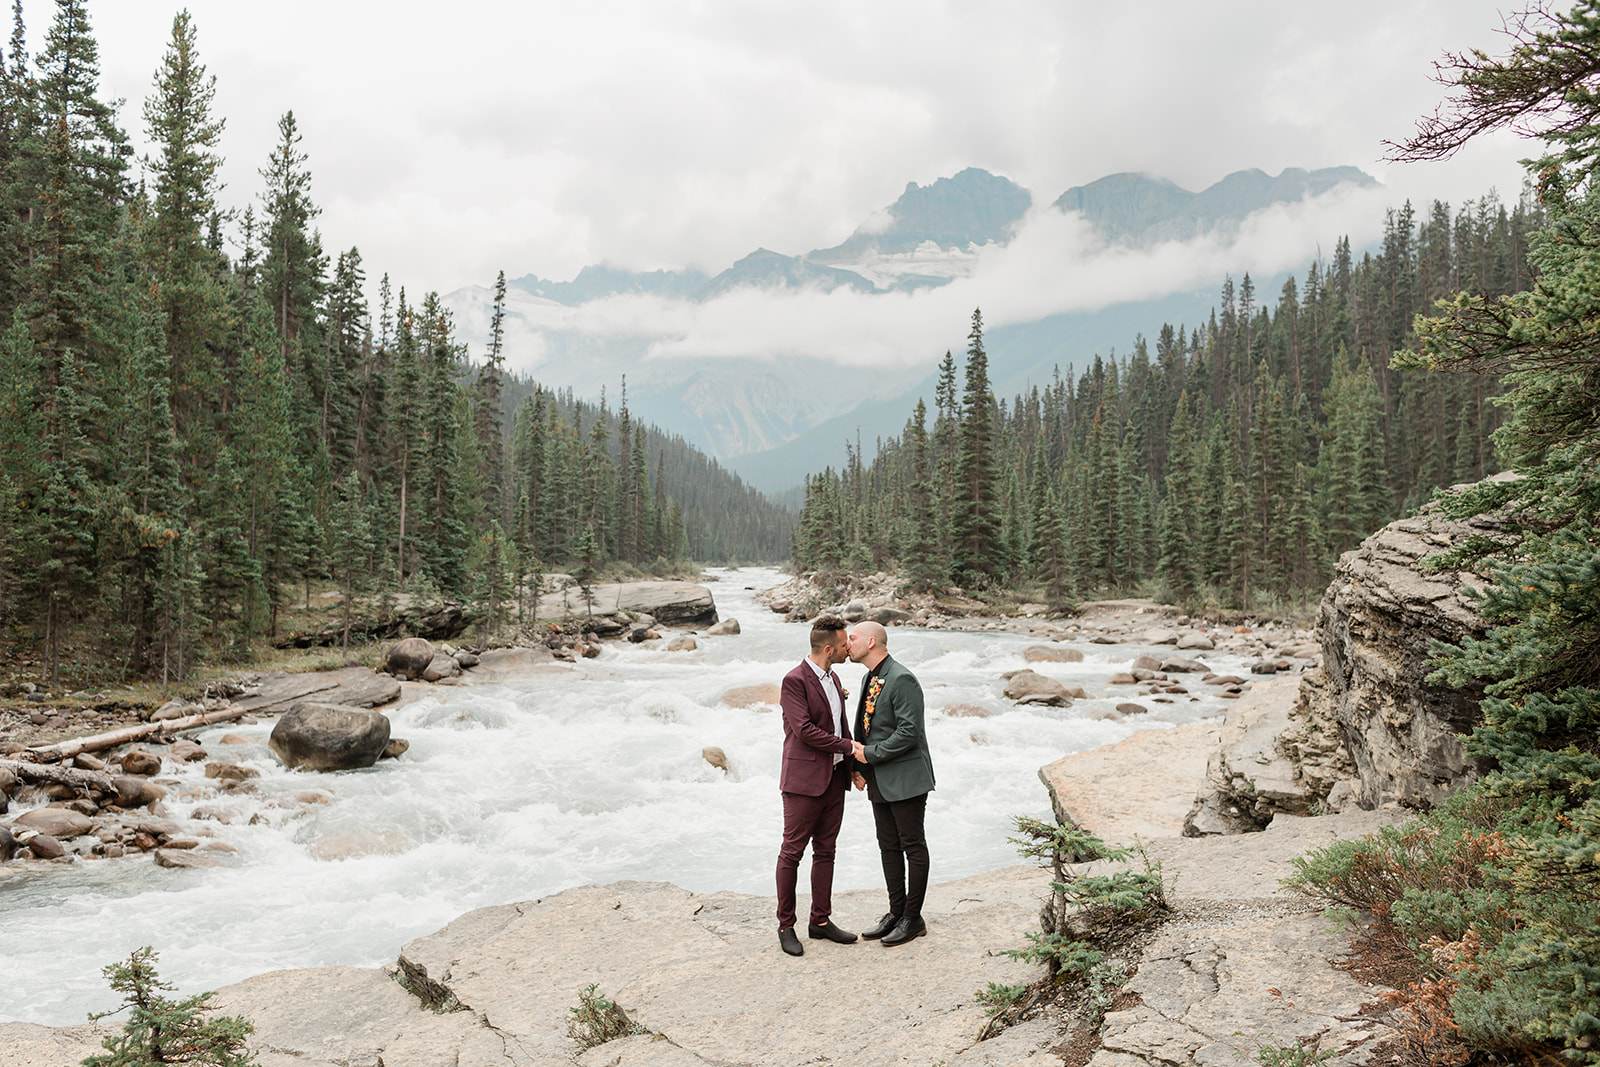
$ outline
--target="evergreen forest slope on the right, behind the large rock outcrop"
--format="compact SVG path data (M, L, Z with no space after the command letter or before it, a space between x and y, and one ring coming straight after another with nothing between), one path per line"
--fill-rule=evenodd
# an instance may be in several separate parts
M1058 603L1306 603L1378 526L1499 469L1499 382L1390 357L1435 301L1525 290L1541 222L1530 195L1435 202L1422 219L1406 203L1381 251L1357 259L1341 238L1270 304L1248 274L1229 278L1208 322L1010 402L989 387L974 312L965 376L946 352L931 410L806 480L795 565L898 565L930 590L1040 582Z

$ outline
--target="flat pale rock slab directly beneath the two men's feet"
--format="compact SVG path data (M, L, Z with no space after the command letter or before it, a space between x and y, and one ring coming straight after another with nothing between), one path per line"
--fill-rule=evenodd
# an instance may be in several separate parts
M1038 869L1006 867L936 885L926 937L898 949L805 941L797 960L778 947L773 897L582 886L469 912L406 944L398 968L275 971L214 1003L256 1024L262 1067L571 1064L568 1008L590 982L650 1033L590 1049L586 1067L1021 1062L1054 1027L974 1046L984 1011L973 992L1040 976L998 953L1037 929L1046 883ZM835 894L846 929L882 910L882 891ZM427 1009L395 976L461 1009ZM70 1067L107 1032L0 1024L0 1067ZM994 1059L1005 1049L1018 1059Z

